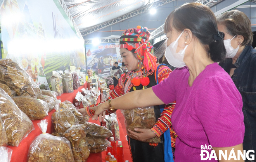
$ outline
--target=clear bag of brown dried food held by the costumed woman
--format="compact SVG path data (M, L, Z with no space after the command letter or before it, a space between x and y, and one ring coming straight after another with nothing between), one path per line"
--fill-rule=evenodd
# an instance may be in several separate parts
M135 131L134 128L151 129L156 123L154 106L125 110L123 111L123 115L125 116L126 130L130 129L132 131ZM128 131L127 131L127 135L130 138L133 138L133 136ZM148 139L145 142L160 143L161 139L158 137L154 137L154 138Z

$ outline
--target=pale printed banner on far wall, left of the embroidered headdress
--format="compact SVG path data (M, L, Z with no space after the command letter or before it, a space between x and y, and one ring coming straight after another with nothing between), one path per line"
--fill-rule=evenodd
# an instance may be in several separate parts
M86 44L87 69L92 69L100 78L110 77L110 70L114 62L122 66L122 58L119 52L119 43L102 43L99 45Z

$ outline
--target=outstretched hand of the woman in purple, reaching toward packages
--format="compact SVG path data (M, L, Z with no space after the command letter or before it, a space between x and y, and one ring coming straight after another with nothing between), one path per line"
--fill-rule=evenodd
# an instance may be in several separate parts
M99 116L99 121L102 122L102 120L105 119L106 111L109 109L109 104L108 101L101 103L98 106L95 107L89 107L89 109L94 110L94 116L92 117L92 120L98 120Z

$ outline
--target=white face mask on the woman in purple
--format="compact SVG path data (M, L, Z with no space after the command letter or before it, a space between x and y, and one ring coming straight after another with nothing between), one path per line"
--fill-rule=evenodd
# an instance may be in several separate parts
M176 50L178 47L178 40L180 39L183 32L180 34L180 36L174 42L172 42L166 48L166 51L164 54L168 63L171 64L171 66L176 67L176 68L182 68L182 67L186 66L185 62L183 61L183 58L184 58L185 50L187 49L188 45L185 46L185 48L183 50L180 50L178 53L176 53Z

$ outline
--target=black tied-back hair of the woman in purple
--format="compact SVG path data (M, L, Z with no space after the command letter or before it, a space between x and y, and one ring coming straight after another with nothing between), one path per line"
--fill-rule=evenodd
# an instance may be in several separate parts
M164 24L165 33L171 31L171 20L173 27L178 31L190 29L211 60L219 62L225 58L224 33L218 31L216 17L209 7L201 3L182 5L167 17ZM216 40L216 35L221 38Z

